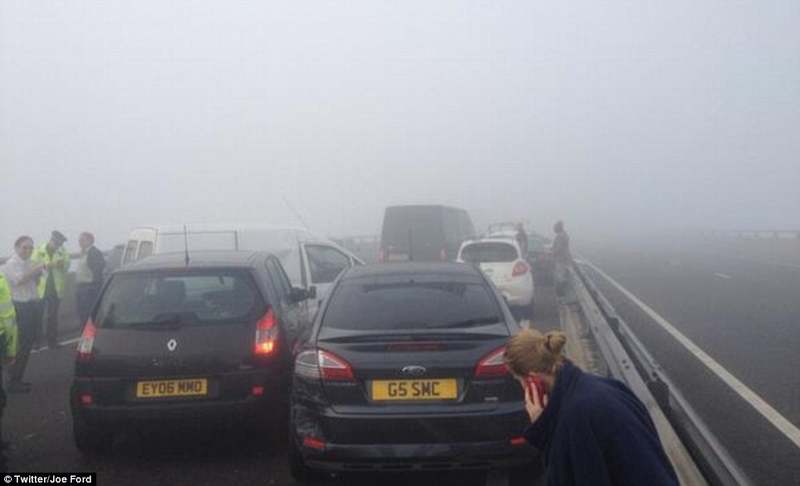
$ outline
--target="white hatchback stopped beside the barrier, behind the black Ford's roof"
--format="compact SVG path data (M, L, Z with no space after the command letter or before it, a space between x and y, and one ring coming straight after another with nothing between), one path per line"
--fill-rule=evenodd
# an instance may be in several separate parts
M514 238L465 241L458 251L457 261L477 265L512 309L523 311L529 318L533 317L533 274Z

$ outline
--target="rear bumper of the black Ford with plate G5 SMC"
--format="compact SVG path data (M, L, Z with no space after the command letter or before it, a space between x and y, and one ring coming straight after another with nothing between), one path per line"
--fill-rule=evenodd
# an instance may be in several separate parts
M339 414L292 407L294 443L309 467L326 471L489 469L536 458L521 439L529 423L521 404L487 413L446 415ZM324 443L308 447L306 438Z

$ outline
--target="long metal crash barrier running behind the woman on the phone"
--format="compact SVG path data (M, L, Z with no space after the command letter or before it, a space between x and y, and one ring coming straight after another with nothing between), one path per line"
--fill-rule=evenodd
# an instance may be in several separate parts
M570 281L585 331L607 374L628 385L647 406L681 484L753 484L580 264L571 269Z

